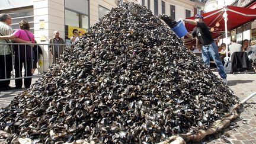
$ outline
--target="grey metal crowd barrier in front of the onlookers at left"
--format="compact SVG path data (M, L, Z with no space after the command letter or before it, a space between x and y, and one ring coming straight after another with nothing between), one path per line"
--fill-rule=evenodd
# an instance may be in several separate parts
M44 72L46 72L50 66L52 66L53 63L55 63L55 60L57 57L60 57L63 53L65 53L65 49L67 47L70 47L72 44L47 44L47 43L0 43L1 44L8 44L9 47L11 47L11 63L12 63L12 71L11 71L11 78L7 78L7 62L5 60L5 55L4 55L4 62L0 63L5 63L5 78L0 79L0 81L6 81L6 80L12 80L12 79L23 79L23 78L34 78L34 77L40 77ZM26 48L26 46L30 46ZM34 47L31 47L34 46ZM54 47L53 54L50 52L49 48ZM23 49L24 48L24 49ZM42 55L39 54L39 49L42 51ZM61 49L62 49L62 54L61 54ZM31 51L27 52L27 50ZM34 53L34 50L36 50L36 54ZM4 53L8 54L8 52ZM37 61L36 63L36 71L32 73L31 76L28 76L29 73L25 71L25 68L33 68L33 59L28 59L31 55L36 56L37 58L34 59ZM21 56L23 55L23 56ZM16 59L15 59L16 57ZM29 62L31 60L31 62ZM21 65L18 65L18 68L15 68L15 62L16 66L23 62L22 68ZM28 66L29 63L29 66ZM31 65L31 67L30 67ZM35 66L35 65L34 65ZM0 68L3 69L3 68ZM16 75L18 73L18 76L15 76L15 69Z

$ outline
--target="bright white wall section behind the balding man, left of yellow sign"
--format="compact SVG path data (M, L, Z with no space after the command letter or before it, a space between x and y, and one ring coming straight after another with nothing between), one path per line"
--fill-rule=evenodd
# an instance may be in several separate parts
M60 37L65 38L65 7L63 0L34 0L34 36L39 43L49 43L41 41L41 37L47 39L53 36L53 31L58 30ZM43 21L40 23L40 21ZM40 24L44 28L40 28Z

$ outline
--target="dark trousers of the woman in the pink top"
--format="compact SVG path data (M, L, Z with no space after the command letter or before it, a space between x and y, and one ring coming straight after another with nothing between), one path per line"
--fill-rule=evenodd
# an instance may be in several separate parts
M32 62L33 59L15 59L14 60L14 69L15 69L15 78L22 77L21 70L24 65L25 73L24 76L32 76L31 69L32 69ZM29 88L31 85L32 78L24 78L24 86L25 88ZM21 88L23 85L22 79L15 79L15 86L17 88Z

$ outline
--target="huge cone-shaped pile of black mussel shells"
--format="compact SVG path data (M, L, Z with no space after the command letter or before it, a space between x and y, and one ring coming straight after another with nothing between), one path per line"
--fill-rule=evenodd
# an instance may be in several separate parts
M208 129L237 103L162 20L128 3L1 109L0 130L8 142L156 143Z

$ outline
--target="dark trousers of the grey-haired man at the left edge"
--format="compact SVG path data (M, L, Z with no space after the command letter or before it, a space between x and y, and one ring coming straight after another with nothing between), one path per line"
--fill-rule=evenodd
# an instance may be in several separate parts
M0 79L11 78L12 71L12 56L0 55ZM10 84L10 80L0 81L0 88L7 88Z

